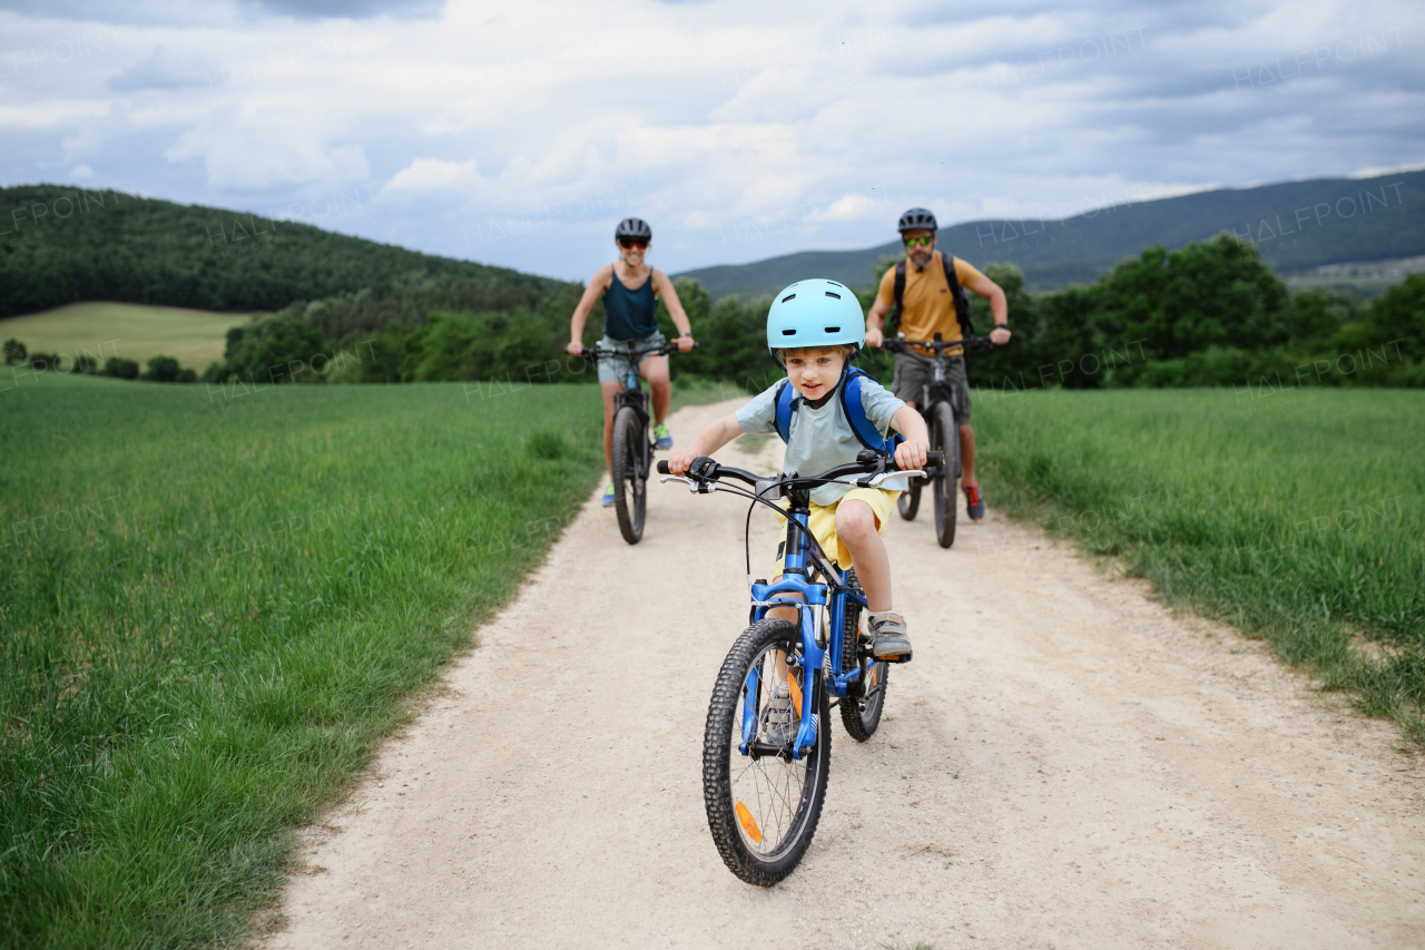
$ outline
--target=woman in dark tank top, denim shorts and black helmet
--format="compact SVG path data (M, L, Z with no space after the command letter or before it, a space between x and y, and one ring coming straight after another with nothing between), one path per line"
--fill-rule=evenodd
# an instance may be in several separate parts
M678 328L678 349L688 352L693 349L693 327L688 315L683 311L678 292L673 290L668 275L656 267L644 264L644 254L653 241L653 230L643 218L624 218L614 228L614 244L618 247L618 261L606 264L589 281L584 295L574 308L574 315L569 321L569 347L566 349L579 355L584 349L584 321L589 311L594 308L594 301L604 298L604 338L598 341L603 349L647 349L661 345L664 337L658 332L658 298L668 308L668 315ZM614 395L624 388L624 364L617 358L598 358L598 388L604 397L604 461L613 472L614 452ZM667 357L644 357L638 364L638 372L648 381L653 389L653 436L657 448L673 448L673 436L664 418L668 415L668 404L673 401L673 384L668 381ZM604 508L613 508L614 482L610 475L604 485Z

